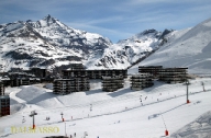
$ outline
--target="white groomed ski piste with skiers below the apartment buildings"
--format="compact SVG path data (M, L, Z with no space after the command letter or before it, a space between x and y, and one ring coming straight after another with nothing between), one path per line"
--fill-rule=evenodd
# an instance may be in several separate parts
M12 114L0 118L0 137L69 137L75 133L76 138L211 136L211 78L190 80L189 104L184 83L154 81L152 88L133 91L125 80L125 87L115 92L102 92L101 83L93 83L90 91L68 95L55 95L43 84L5 88ZM37 113L35 131L29 129L33 125L29 116L32 111ZM169 136L165 136L166 129Z

